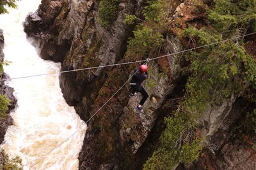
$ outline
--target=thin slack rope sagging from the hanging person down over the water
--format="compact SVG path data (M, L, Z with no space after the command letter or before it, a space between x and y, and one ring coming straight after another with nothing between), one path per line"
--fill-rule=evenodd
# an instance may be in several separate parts
M134 74L136 74L137 72L138 72L138 70L135 71ZM134 74L132 74L132 76L134 76ZM100 111L104 106L106 106L106 104L107 104L107 103L125 86L125 84L126 84L129 80L131 80L132 76L129 77L127 81L125 81L125 83L115 92L115 94L113 94L113 95L108 99L108 101L106 101L106 102L99 108L99 110L97 110L97 111L92 115L92 117L90 117L90 118L85 122L85 124L87 124L93 117L95 117L95 115L97 115L97 113L99 113L99 111ZM65 139L64 141L62 141L59 145L57 145L56 147L52 148L52 149L49 150L48 152L44 153L44 155L41 155L41 156L38 157L37 159L35 159L35 160L29 162L28 164L26 164L26 165L24 165L24 166L28 166L28 165L32 164L33 162L36 162L36 160L41 159L42 157L45 157L46 155L48 155L48 153L51 153L51 152L54 151L56 148L59 148L59 147L60 147L61 145L63 145L66 141L68 141L68 139L72 138L72 136L74 136L74 134L76 134L76 133L79 132L81 129L83 129L83 127L84 127L84 125L81 126L81 127L79 127L79 129L77 129L77 131L75 131L75 132L72 133L70 136L68 136L68 138Z

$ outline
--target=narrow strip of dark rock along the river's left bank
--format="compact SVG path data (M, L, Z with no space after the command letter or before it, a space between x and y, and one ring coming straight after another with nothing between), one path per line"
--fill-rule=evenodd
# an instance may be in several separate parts
M3 31L0 29L0 61L1 62L3 62L4 60L3 48L4 48L4 36L3 36ZM6 78L8 78L8 75L1 72L0 79L6 79ZM4 85L4 81L0 81L0 95L4 95L11 100L10 106L8 106L9 108L8 112L10 112L12 109L15 108L17 99L15 99L15 97L13 96L13 89L11 87ZM4 134L9 125L12 125L12 117L10 117L10 115L0 120L0 143L4 141Z

